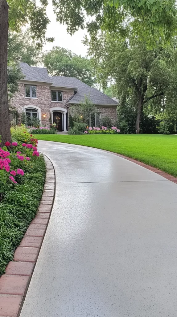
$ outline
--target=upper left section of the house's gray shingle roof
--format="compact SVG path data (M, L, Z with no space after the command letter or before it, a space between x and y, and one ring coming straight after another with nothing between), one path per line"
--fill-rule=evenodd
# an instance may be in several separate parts
M20 63L20 67L22 73L25 75L24 80L51 83L46 68L31 67L27 63Z

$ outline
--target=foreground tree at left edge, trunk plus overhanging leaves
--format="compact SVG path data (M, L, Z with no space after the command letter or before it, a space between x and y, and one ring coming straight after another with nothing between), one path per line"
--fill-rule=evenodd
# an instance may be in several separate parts
M42 47L45 41L53 41L46 38L47 25L50 22L46 15L47 0L40 0L40 7L35 0L0 0L0 135L2 145L5 141L11 141L9 106L8 106L8 74L7 51L8 29L19 32L21 26L29 24L29 32L38 47Z

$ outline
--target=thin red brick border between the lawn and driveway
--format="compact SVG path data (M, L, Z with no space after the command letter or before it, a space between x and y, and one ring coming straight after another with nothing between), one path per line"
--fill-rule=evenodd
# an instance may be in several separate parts
M156 167L152 167L152 166L150 166L150 165L147 165L147 164L145 164L145 163L142 163L142 162L140 162L140 161L137 161L136 159L131 159L131 158L129 158L128 156L125 156L125 155L122 155L122 154L118 154L118 153L115 153L115 152L110 152L110 151L107 151L107 150L103 150L103 151L108 152L108 153L111 153L111 154L114 154L114 155L117 155L117 156L120 156L120 157L123 158L123 159L127 159L128 161L131 161L131 162L133 162L133 163L135 163L135 164L138 164L138 165L140 165L140 166L142 166L142 167L145 167L145 168L147 168L148 170L150 170L150 171L152 171L152 172L154 172L154 173L156 173L156 174L159 174L160 176L162 176L162 177L164 177L164 178L167 178L168 180L171 180L171 182L177 184L177 178L176 178L176 177L174 177L174 176L172 176L172 175L170 175L170 174L168 174L168 173L166 173L166 172L163 172L163 171L161 171L161 170L158 170L158 168L156 168Z

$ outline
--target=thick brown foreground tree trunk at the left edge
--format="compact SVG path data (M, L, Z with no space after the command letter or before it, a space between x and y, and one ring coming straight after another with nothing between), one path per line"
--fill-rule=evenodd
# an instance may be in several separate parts
M8 4L0 0L0 135L2 146L11 142L7 89Z

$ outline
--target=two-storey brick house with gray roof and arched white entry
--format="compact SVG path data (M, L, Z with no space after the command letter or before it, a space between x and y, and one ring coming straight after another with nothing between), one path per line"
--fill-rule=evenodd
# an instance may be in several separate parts
M88 96L97 108L93 125L99 126L104 116L116 121L118 103L74 77L49 76L46 68L31 67L20 63L25 78L18 81L19 91L11 100L19 113L39 118L42 126L49 126L50 119L58 131L67 132L71 106L80 105Z

